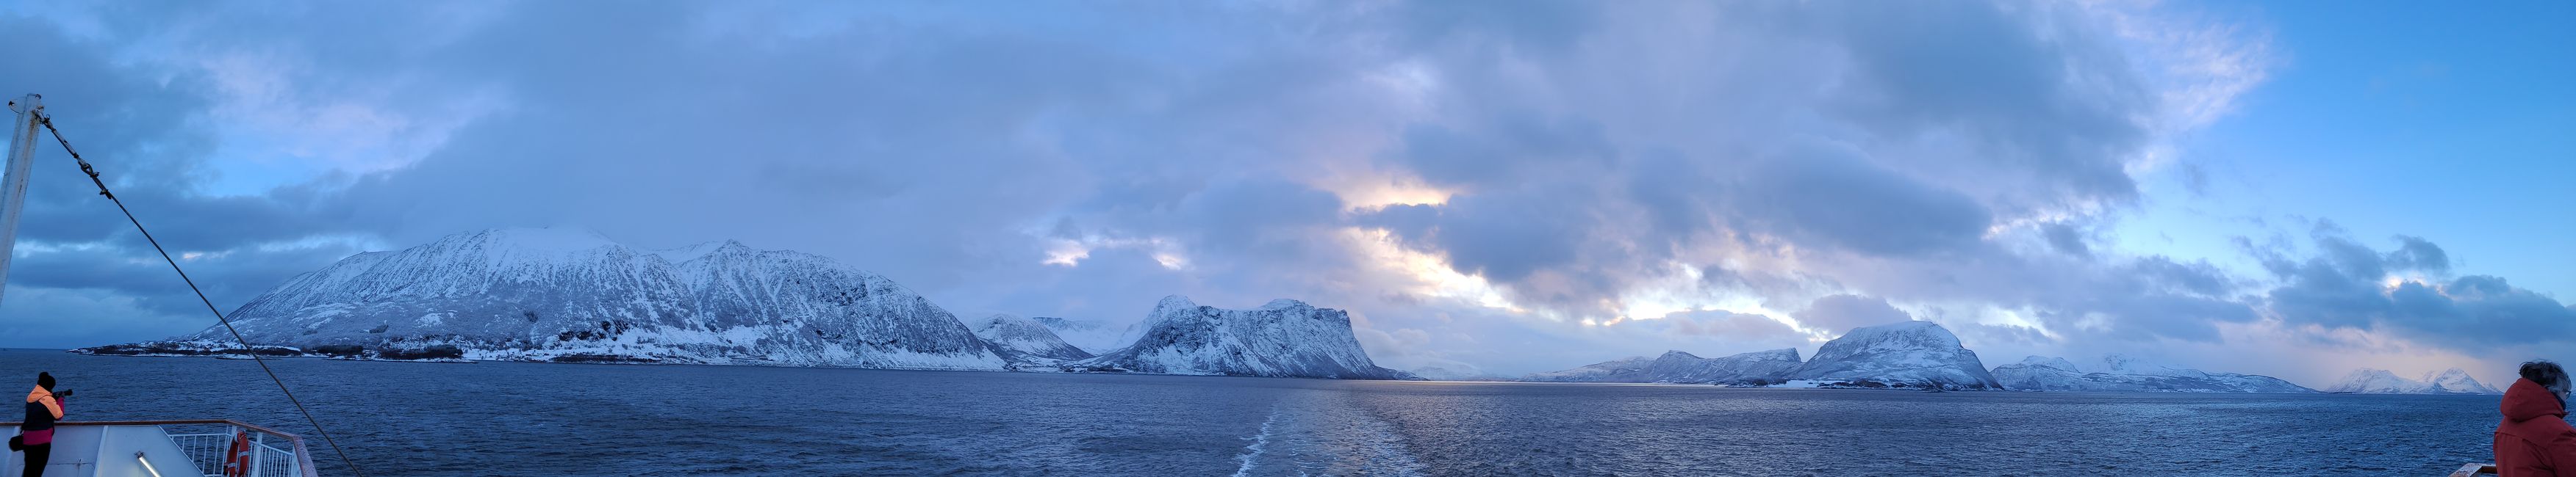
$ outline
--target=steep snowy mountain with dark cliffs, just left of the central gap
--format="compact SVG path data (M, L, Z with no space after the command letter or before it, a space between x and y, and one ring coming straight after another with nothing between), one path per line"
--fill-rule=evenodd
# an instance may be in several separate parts
M1381 369L1350 335L1350 315L1296 299L1260 309L1200 307L1164 297L1133 346L1066 364L1072 371L1414 379Z

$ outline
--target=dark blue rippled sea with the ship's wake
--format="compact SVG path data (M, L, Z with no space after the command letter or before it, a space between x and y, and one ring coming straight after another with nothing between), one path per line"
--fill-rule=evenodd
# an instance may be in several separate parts
M2445 474L2496 397L268 361L399 474ZM0 351L70 420L312 438L252 361Z

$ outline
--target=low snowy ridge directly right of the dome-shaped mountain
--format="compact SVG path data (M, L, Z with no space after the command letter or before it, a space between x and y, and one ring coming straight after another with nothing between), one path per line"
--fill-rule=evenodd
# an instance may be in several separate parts
M2004 389L2050 392L2313 392L2275 376L2154 366L2128 356L2105 356L2092 371L2066 358L2030 356L1994 366L1994 379Z

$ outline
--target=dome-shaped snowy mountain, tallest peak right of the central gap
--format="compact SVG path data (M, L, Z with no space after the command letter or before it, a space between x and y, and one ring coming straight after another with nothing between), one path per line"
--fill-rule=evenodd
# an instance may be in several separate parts
M1968 389L1996 389L1994 374L1976 361L1976 351L1958 343L1947 327L1935 322L1891 322L1852 327L1842 338L1816 348L1816 358L1798 366L1790 379L1870 379L1906 384L1945 384Z

